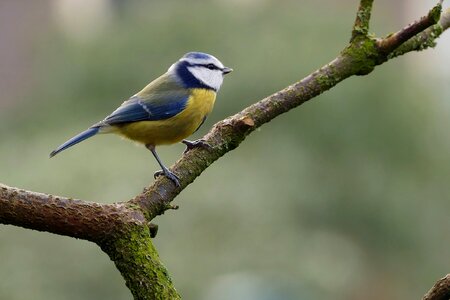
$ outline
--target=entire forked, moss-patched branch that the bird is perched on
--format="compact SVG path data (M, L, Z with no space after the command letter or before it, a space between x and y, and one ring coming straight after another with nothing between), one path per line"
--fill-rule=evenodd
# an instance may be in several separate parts
M211 148L191 150L172 166L181 187L160 177L127 202L97 204L0 185L0 224L92 241L114 261L135 299L179 299L153 247L151 236L156 234L156 227L149 222L173 208L171 201L186 186L214 161L238 147L256 128L350 76L369 74L398 55L433 46L436 38L449 27L449 10L436 24L441 13L440 1L419 21L393 35L375 38L369 35L372 4L373 0L361 0L350 44L333 61L215 124L204 137Z

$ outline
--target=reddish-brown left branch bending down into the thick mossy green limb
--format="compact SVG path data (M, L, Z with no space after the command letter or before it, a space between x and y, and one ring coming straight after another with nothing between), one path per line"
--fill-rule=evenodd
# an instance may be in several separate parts
M0 223L94 242L114 261L136 299L179 299L153 247L153 226L129 203L92 203L0 184Z

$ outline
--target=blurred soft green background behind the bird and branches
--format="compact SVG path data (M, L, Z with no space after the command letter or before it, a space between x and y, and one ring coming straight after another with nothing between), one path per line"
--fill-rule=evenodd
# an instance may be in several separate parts
M424 2L424 3L422 3ZM425 3L426 2L426 3ZM375 1L393 32L436 1ZM0 182L98 202L152 182L116 136L48 153L185 52L227 76L215 122L333 59L357 0L0 0ZM156 223L184 299L419 299L450 271L450 36L253 133ZM167 164L182 145L161 147ZM132 299L89 242L0 226L0 299Z

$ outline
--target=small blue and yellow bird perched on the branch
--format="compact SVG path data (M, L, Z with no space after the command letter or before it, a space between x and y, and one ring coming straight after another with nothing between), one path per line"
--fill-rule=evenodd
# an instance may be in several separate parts
M179 178L161 161L155 147L182 142L186 151L208 146L203 140L189 141L211 113L224 75L233 69L216 57L189 52L170 66L166 73L123 102L116 110L85 131L72 137L50 153L50 158L90 137L115 133L145 145L160 165L154 177L164 175L177 187Z

